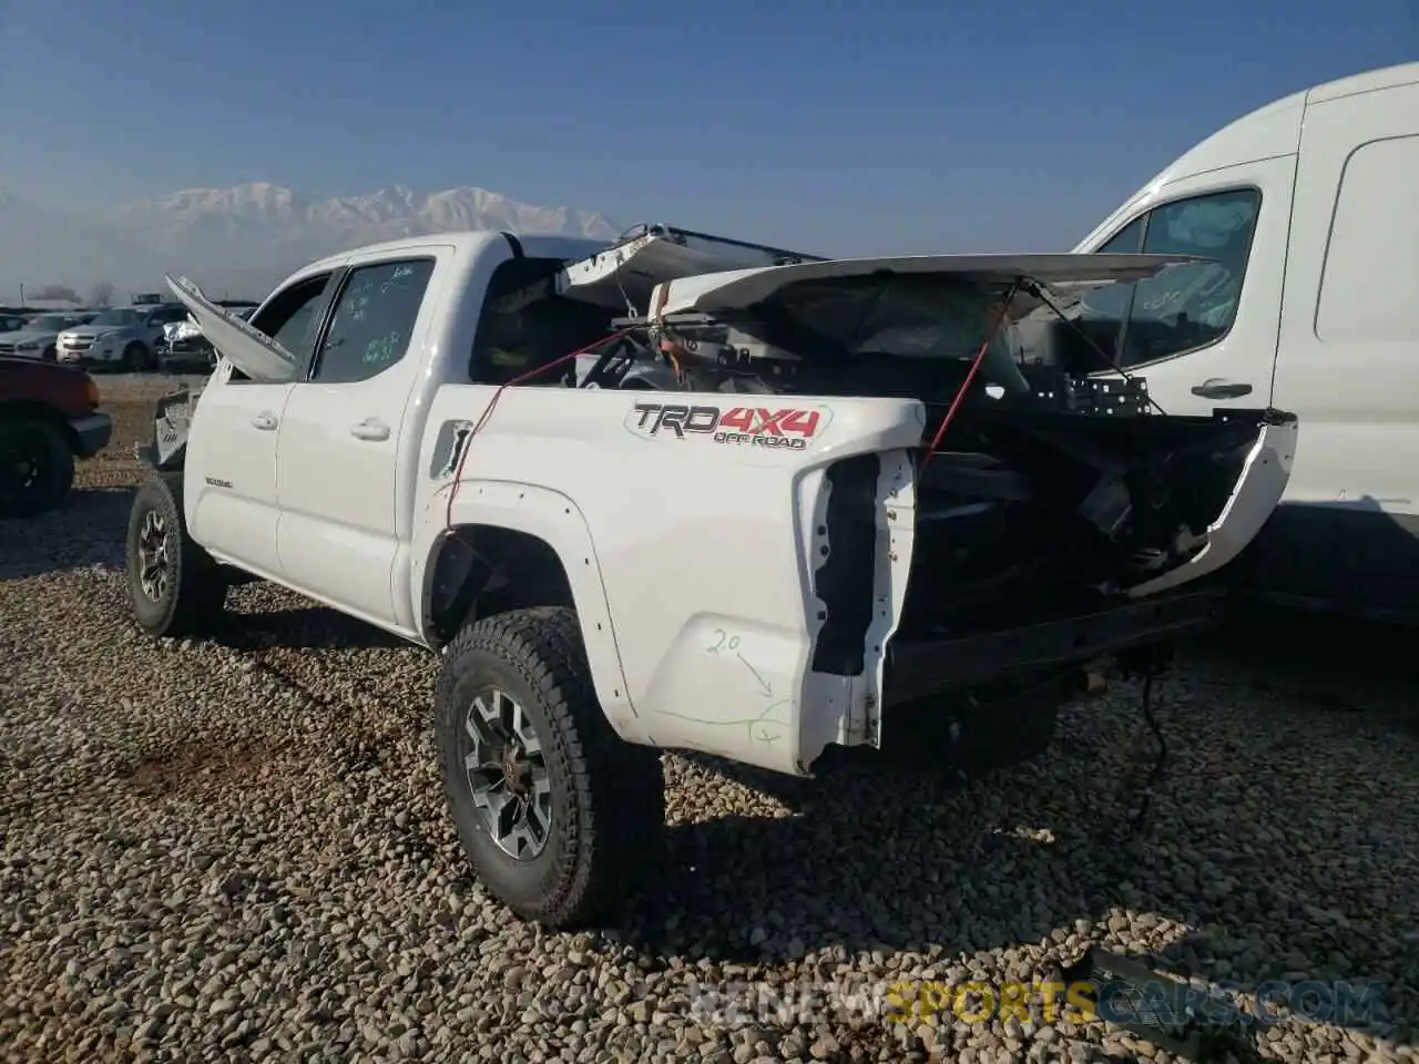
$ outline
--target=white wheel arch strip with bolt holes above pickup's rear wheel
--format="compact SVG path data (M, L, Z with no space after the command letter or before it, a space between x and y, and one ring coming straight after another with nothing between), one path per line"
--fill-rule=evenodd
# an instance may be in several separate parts
M438 492L430 504L431 509L441 511L447 505L446 499L447 495ZM568 495L552 488L515 481L471 480L458 485L451 523L454 528L494 525L522 532L543 541L556 552L572 589L592 684L602 711L622 739L644 742L644 726L630 702L606 586L602 582L600 560L596 556L586 515L580 508ZM416 555L421 559L420 569L414 573L414 586L420 589L416 616L420 619L424 616L423 606L429 597L427 584L433 577L434 562L450 535L441 519L437 525L429 549ZM429 640L431 634L424 631L424 638Z

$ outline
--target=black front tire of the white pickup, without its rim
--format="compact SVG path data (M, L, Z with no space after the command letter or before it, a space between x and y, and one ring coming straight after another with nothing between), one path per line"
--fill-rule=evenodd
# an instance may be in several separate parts
M165 525L172 570L155 600L143 590L139 539L143 521L156 511ZM221 616L227 579L221 566L187 535L182 508L182 472L158 472L133 497L128 514L128 597L133 619L149 636L194 636L207 631Z

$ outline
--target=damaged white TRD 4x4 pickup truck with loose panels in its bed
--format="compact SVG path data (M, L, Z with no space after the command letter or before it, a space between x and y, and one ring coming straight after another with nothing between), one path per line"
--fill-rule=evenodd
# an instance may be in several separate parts
M990 340L1171 262L657 226L363 248L250 322L170 281L223 358L159 407L133 611L193 633L258 577L429 647L480 878L596 919L647 868L661 749L809 775L922 712L1037 749L1071 668L1218 614L1296 419L1148 413Z

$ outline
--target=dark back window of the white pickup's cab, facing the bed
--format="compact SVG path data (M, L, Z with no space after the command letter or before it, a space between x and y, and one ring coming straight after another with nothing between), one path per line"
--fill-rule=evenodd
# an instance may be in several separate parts
M492 272L473 340L470 380L507 384L610 332L612 311L556 295L562 265L559 258L509 258ZM575 373L573 365L558 366L526 384L566 386Z

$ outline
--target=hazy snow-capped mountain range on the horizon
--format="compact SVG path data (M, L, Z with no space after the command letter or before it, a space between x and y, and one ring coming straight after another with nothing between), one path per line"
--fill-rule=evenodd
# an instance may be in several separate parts
M187 189L89 217L0 190L0 304L18 285L101 282L119 299L184 274L211 295L260 299L304 262L363 244L457 230L614 238L604 214L522 203L487 189L421 192L406 184L362 196L312 197L267 182Z

